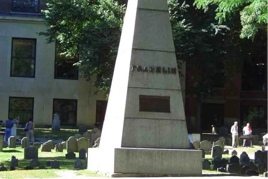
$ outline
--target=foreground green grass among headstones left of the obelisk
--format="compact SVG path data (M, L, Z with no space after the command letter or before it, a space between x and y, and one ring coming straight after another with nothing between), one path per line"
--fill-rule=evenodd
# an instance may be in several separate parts
M66 150L63 152L55 152L55 150L51 150L51 152L41 152L41 149L38 150L38 161L41 165L46 166L46 161L49 160L58 160L60 162L60 169L63 170L74 170L74 160L65 159ZM79 154L76 154L76 158L78 158ZM31 160L24 159L24 149L22 148L3 148L3 152L1 152L0 163L3 163L5 167L8 168L11 165L11 156L14 155L18 159L18 166L16 170L24 170L25 166L28 166ZM82 160L83 164L86 164L86 160ZM39 170L38 170L39 171Z

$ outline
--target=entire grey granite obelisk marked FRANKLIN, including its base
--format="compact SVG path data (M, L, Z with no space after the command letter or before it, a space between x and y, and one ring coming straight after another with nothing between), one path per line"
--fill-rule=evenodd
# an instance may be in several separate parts
M167 0L130 0L100 146L88 149L88 169L201 174L202 151L188 148Z

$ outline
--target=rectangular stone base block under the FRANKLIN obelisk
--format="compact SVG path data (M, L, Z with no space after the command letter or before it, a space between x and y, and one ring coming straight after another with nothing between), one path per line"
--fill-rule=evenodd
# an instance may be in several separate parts
M112 174L202 174L202 151L160 148L88 148L88 170Z

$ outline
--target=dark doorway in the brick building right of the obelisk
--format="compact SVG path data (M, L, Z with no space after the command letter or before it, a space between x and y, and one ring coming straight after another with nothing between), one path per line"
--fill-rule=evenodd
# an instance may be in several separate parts
M202 103L201 104L201 130L212 132L212 125L222 126L224 123L224 104Z

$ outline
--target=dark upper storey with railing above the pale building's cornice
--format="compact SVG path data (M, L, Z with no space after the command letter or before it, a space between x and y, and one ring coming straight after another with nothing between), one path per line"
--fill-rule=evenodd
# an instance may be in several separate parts
M46 9L46 5L40 5L39 0L13 0L6 3L0 1L1 13L40 14L43 9Z

